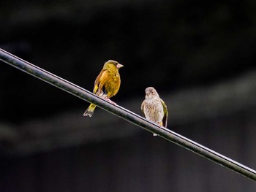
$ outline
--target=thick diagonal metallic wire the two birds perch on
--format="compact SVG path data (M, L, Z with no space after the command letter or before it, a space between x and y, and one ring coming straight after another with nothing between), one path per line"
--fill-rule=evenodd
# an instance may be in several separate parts
M4 61L6 64L10 64L17 69L20 69L23 72L31 74L34 77L37 77L39 80L43 80L48 82L50 85L54 85L57 88L60 88L63 91L67 91L74 96L77 96L80 99L88 101L90 103L94 103L97 107L102 108L108 112L117 115L119 118L123 118L124 120L129 121L130 123L135 124L136 126L140 126L141 128L146 129L147 131L151 131L154 134L159 135L164 139L167 139L170 142L175 143L181 147L186 148L187 150L196 153L197 155L202 156L203 158L207 158L210 161L213 161L221 166L226 167L227 169L232 170L238 174L243 175L244 177L248 177L252 180L256 181L256 171L244 166L243 164L239 164L236 161L233 161L230 158L227 158L225 155L221 155L214 150L208 149L203 145L198 144L197 142L192 141L191 139L187 139L180 134L177 134L174 131L170 131L167 128L163 128L158 126L155 123L152 123L149 120L141 117L140 115L131 112L124 107L110 104L105 99L96 96L94 93L87 91L84 88L79 87L78 85L73 84L67 80L62 79L61 77L56 76L50 72L45 71L45 69L41 69L38 66L30 64L27 61L24 61L21 58L18 58L11 53L8 53L5 50L0 49L0 60Z

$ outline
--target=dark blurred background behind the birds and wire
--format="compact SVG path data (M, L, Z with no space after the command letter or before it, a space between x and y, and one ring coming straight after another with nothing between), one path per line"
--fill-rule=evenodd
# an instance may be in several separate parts
M1 1L0 47L118 105L154 86L168 128L256 169L256 1ZM255 191L252 180L0 62L0 191Z

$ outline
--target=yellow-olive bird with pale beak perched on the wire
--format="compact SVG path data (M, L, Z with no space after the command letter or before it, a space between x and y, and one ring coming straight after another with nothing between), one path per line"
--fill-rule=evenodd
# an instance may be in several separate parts
M110 100L110 97L115 96L120 88L121 79L118 69L122 66L117 61L108 60L94 82L93 93L103 99L107 99L112 104L116 104ZM86 112L83 113L83 116L89 115L91 117L94 114L95 108L95 104L90 104Z

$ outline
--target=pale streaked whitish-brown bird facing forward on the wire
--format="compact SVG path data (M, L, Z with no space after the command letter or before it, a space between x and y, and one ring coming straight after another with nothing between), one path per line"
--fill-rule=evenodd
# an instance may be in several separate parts
M141 111L147 120L151 120L159 126L167 127L167 106L160 99L157 91L153 87L148 87L145 90L145 100L141 104ZM157 136L157 134L154 134Z

